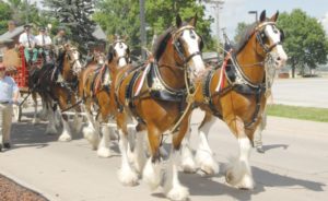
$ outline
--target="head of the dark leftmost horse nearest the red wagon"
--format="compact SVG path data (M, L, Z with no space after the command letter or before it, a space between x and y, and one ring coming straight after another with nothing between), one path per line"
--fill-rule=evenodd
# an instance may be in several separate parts
M68 71L72 71L74 75L78 75L83 68L80 61L80 51L77 47L73 47L69 44L66 44L63 48L66 52L65 62L68 62L68 64L63 64L63 67L67 67Z

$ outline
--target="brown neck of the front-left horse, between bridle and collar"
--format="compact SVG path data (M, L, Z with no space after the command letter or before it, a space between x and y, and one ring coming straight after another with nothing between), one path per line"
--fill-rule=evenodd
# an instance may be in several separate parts
M159 60L159 69L162 80L172 88L184 88L185 84L185 72L174 59L174 49L169 44Z

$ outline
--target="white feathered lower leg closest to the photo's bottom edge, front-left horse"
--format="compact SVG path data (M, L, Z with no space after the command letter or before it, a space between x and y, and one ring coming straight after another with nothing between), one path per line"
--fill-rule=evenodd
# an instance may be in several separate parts
M188 188L184 187L178 178L178 151L172 151L169 163L166 170L166 180L164 184L164 192L171 200L187 200L189 196Z

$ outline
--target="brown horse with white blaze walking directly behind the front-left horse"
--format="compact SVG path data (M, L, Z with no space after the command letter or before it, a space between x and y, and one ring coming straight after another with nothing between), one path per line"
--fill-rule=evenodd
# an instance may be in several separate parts
M83 128L84 138L89 140L97 155L109 157L109 132L105 125L110 116L115 116L114 99L110 97L113 78L116 71L130 62L130 50L125 38L116 36L109 46L107 60L99 64L90 62L80 75L79 96L84 102L87 127ZM91 105L97 107L96 119L93 118ZM99 135L102 133L102 140Z

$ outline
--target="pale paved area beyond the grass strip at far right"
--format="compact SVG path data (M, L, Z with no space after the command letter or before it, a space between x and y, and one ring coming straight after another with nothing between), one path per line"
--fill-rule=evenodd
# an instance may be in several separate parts
M272 93L276 104L328 108L328 78L278 79Z

